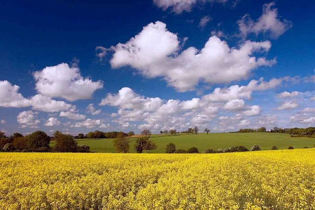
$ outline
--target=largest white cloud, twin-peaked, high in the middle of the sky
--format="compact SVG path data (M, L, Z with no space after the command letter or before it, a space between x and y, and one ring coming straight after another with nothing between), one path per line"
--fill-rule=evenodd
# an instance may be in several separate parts
M255 68L276 62L253 56L269 51L269 41L246 41L230 48L225 41L212 36L201 50L189 47L180 52L180 48L177 35L157 21L125 44L106 50L114 52L110 60L113 68L129 65L146 77L163 77L178 91L193 90L200 81L218 84L246 79Z

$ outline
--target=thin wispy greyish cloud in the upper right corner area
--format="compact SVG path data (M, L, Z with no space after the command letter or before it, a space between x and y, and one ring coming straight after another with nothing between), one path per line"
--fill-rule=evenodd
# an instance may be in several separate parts
M237 21L241 35L246 38L250 33L269 33L272 38L278 38L286 30L292 27L288 20L281 20L278 15L278 9L274 8L275 2L266 3L262 8L262 15L253 21L249 14Z

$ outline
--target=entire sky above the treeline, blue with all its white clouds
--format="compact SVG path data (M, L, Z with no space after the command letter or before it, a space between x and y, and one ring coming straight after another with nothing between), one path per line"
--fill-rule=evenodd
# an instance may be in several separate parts
M10 1L0 28L6 134L315 123L311 0Z

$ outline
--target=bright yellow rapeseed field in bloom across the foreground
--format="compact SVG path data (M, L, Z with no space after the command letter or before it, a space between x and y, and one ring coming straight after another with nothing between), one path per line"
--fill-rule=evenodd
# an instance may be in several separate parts
M314 210L315 150L0 153L1 210Z

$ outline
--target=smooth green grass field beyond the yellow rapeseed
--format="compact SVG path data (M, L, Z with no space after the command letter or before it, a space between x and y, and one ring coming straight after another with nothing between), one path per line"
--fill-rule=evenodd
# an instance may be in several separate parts
M199 152L206 149L224 149L231 146L245 146L249 150L254 144L261 146L262 150L271 150L272 146L278 149L287 149L289 146L294 148L314 147L315 138L291 138L287 134L280 133L209 133L209 134L182 134L182 135L153 135L151 137L157 144L157 150L144 151L146 153L164 153L165 147L172 142L176 149L198 148ZM133 138L131 138L130 152L133 149ZM116 152L113 139L79 139L78 145L88 145L94 152ZM54 145L54 141L51 142Z

